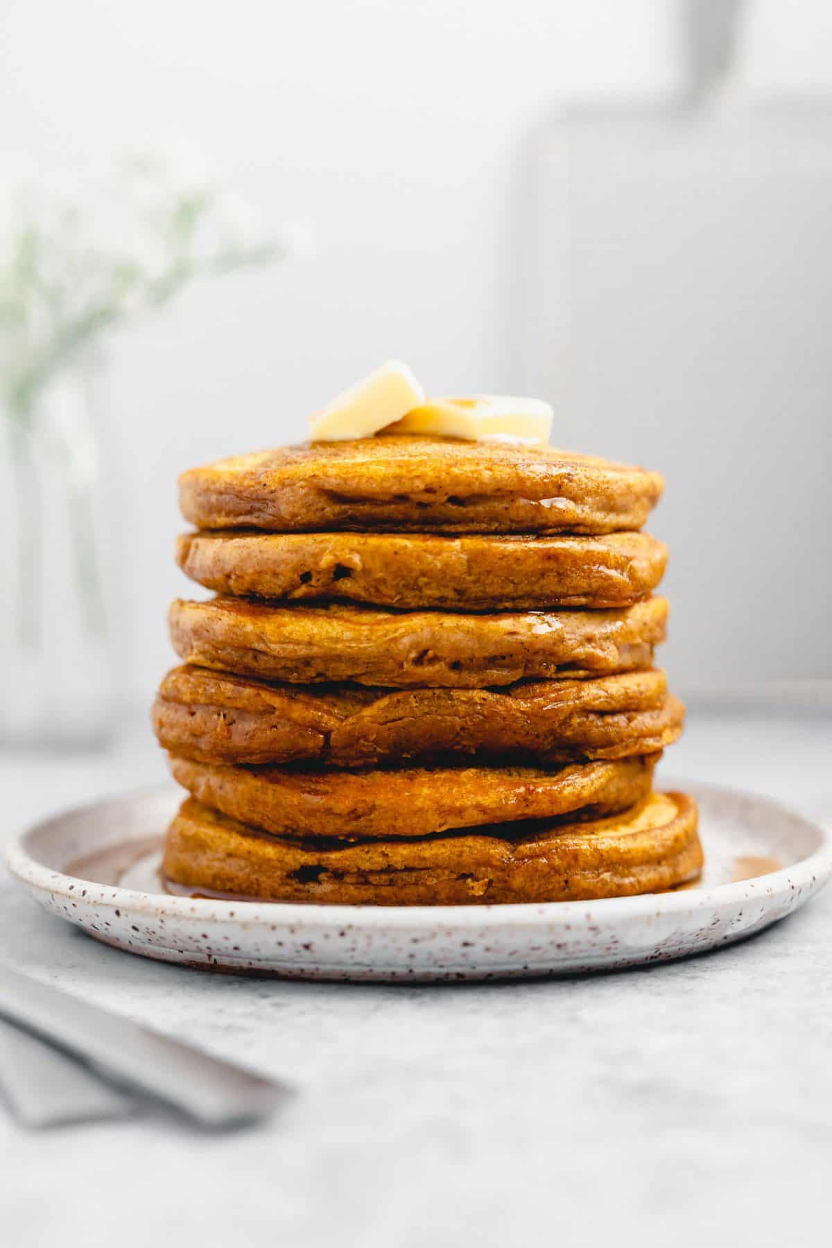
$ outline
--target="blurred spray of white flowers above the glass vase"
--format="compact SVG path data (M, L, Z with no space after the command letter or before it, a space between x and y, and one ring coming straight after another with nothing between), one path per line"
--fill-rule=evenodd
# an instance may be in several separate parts
M6 185L0 387L17 406L120 321L195 278L308 250L308 228L269 236L203 154L168 137L125 156L106 181L57 181L30 166Z

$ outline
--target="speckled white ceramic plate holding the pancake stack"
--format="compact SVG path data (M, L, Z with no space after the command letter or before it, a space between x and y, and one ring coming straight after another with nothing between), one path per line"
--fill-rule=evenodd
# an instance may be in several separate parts
M670 785L667 786L670 787ZM186 966L337 980L483 980L601 970L700 953L802 906L832 874L832 835L765 797L685 785L700 804L696 887L511 906L312 906L162 891L165 787L59 815L24 832L12 874L51 914L117 948ZM95 867L84 871L79 861ZM780 870L733 882L740 870Z

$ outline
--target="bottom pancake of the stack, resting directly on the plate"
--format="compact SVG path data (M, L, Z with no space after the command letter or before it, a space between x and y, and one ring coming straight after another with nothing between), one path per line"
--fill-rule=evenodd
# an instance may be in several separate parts
M167 834L173 891L268 901L425 906L589 901L657 892L702 867L697 812L685 794L651 794L588 824L316 849L252 832L193 799Z

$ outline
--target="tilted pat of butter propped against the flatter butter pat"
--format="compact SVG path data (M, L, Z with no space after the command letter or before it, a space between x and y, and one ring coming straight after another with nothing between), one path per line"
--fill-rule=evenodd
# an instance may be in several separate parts
M398 359L388 359L316 412L309 437L313 442L368 438L419 403L424 403L424 391L410 369Z

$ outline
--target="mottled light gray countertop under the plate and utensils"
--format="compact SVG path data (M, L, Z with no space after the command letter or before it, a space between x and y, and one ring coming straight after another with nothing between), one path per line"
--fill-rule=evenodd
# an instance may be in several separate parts
M832 821L832 721L691 715L665 773ZM5 834L162 779L143 730L106 756L0 755ZM15 1246L821 1242L832 1166L832 890L690 961L535 982L212 976L96 945L4 880L0 956L282 1075L267 1127L165 1119L26 1133L0 1114Z

